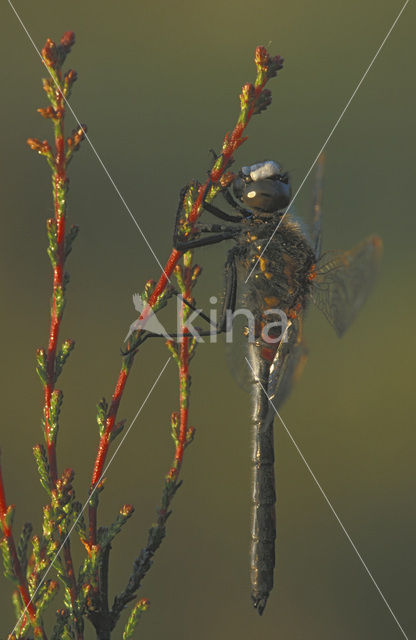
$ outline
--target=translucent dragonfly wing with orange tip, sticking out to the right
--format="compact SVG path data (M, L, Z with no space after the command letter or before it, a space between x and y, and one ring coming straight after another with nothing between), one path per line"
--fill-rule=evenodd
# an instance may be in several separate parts
M383 244L370 236L322 265L312 300L341 337L367 300L380 268Z

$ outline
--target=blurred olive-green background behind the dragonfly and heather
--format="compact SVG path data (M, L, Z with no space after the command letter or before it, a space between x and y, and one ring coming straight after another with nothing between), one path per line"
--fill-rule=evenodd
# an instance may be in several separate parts
M273 104L251 122L236 166L277 159L296 188L400 7L385 0L16 3L39 47L48 36L76 32L68 66L79 80L71 104L162 263L179 189L204 178L208 150L218 150L232 128L240 87L254 79L255 47L269 45L286 62L270 83ZM36 113L46 104L40 60L7 3L0 13L0 441L17 528L25 520L39 526L45 500L31 449L42 439L34 353L47 341L45 219L52 204L47 165L25 140L50 136L50 128ZM380 282L342 341L311 310L310 358L282 411L409 638L416 633L414 23L410 4L327 147L324 248L346 249L379 233L385 245ZM135 318L131 295L160 270L87 143L70 180L70 221L81 233L68 262L62 337L77 346L60 380L59 464L75 467L84 500L97 446L95 404L114 387L119 347ZM311 190L308 180L299 213L310 206ZM204 268L199 303L206 305L222 286L225 250L197 252ZM146 345L120 418L131 421L166 358L163 344ZM137 637L403 637L281 425L276 586L264 616L252 610L248 398L225 366L221 340L198 349L192 371L196 439L186 453L167 539L140 590L152 606ZM154 519L173 453L169 416L177 406L170 364L108 472L101 523L111 522L123 503L136 506L114 544L112 595L124 585ZM0 587L6 637L14 620L10 584L1 577ZM86 638L94 637L88 627Z

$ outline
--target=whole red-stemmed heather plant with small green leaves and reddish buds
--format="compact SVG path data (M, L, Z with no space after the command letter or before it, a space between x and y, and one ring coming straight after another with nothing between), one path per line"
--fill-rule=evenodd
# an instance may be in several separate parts
M79 228L67 228L68 176L67 168L86 138L86 126L78 123L70 135L65 134L65 116L77 73L64 70L63 65L75 43L72 31L67 31L58 43L51 39L42 49L42 59L48 76L43 79L43 90L48 105L38 109L53 129L53 141L29 138L31 149L45 158L52 174L52 200L54 216L46 222L47 254L52 269L52 292L48 343L36 351L36 372L43 391L42 430L44 444L33 447L41 486L45 491L42 530L33 533L32 525L25 523L17 544L13 534L14 505L6 501L0 464L0 548L4 575L14 585L12 603L16 614L16 626L9 640L27 638L48 640L42 615L60 593L61 603L56 611L56 621L49 634L51 640L83 640L84 620L94 626L99 640L109 640L121 613L135 601L124 628L123 640L133 638L137 623L150 606L149 600L137 600L137 591L153 564L153 558L165 535L167 520L172 512L173 498L181 486L180 472L183 456L191 444L194 427L189 425L191 375L189 365L195 355L197 341L186 329L186 321L193 305L193 289L198 282L201 267L193 262L192 251L173 249L157 283L148 280L141 299L143 323L150 311L156 313L176 293L170 282L176 280L182 296L182 318L177 340L168 340L167 347L177 365L179 380L179 407L171 413L170 435L173 440L173 459L163 480L160 505L156 520L151 525L146 544L133 562L126 586L115 596L112 606L108 603L109 558L117 535L133 515L132 505L124 504L112 524L98 526L100 494L105 486L103 477L110 445L122 432L125 420L117 420L119 406L125 392L127 379L133 367L139 347L146 337L146 329L140 329L130 338L128 349L122 357L119 376L111 400L102 398L97 405L98 448L89 485L88 519L84 507L76 499L74 471L58 470L57 445L60 416L64 407L63 391L56 383L72 353L75 342L70 338L60 340L62 317L67 303L69 274L66 260L72 250ZM196 180L181 192L179 233L182 238L192 235L195 223L203 210L203 201L209 202L233 180L229 170L234 153L246 140L243 136L253 115L262 112L271 102L271 93L265 84L282 68L283 60L271 57L264 47L255 53L256 79L245 84L240 95L240 113L234 129L224 137L221 153L215 156L213 166L204 183ZM179 214L178 214L179 215ZM183 300L186 301L183 302ZM76 532L85 557L78 572L72 561L69 536ZM53 568L58 580L49 576ZM28 635L29 634L29 635Z

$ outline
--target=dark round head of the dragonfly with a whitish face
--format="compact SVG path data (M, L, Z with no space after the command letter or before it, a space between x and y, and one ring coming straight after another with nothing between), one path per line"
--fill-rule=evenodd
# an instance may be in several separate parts
M288 174L273 160L243 167L233 182L233 191L253 215L284 209L291 196Z

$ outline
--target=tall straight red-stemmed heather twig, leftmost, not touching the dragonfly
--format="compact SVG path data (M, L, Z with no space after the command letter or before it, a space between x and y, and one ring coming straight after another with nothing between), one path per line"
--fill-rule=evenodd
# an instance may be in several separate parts
M54 127L55 152L52 151L47 141L40 142L29 138L29 146L46 157L52 169L52 189L54 202L54 218L47 221L49 238L48 255L53 269L51 321L49 330L48 348L39 349L37 352L37 371L44 387L44 433L48 455L48 473L50 489L55 489L58 481L58 465L56 457L56 444L59 428L59 413L63 394L56 389L56 381L69 353L74 347L72 340L66 340L60 351L58 349L59 331L65 307L65 289L69 282L69 275L65 272L65 260L71 250L73 240L78 228L72 227L66 235L66 207L67 207L67 165L72 153L79 148L85 134L85 126L76 130L65 140L64 122L65 106L69 98L71 88L77 75L71 69L65 75L62 73L62 65L67 54L75 42L72 31L67 31L59 45L48 39L42 49L42 58L47 67L51 80L43 80L43 89L48 97L50 106L38 109L39 113L50 119ZM67 588L70 594L71 607L76 617L77 611L77 584L74 566L71 556L70 542L67 540L63 547L64 567L67 578ZM76 621L77 638L82 639L82 624Z

